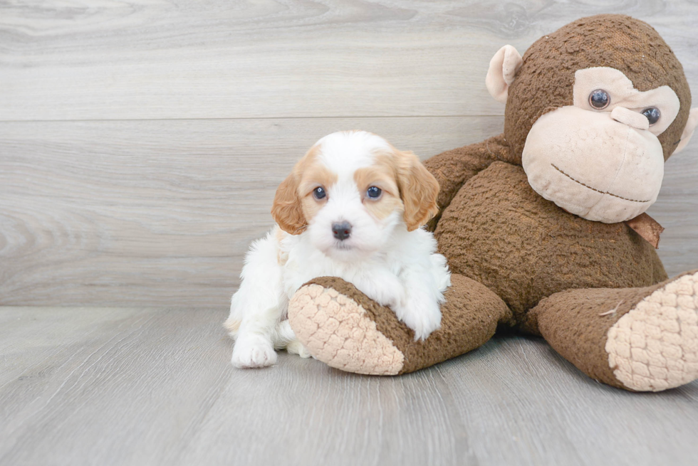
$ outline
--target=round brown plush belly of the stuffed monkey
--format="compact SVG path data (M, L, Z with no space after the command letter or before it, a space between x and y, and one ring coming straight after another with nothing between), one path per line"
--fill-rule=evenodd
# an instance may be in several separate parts
M499 161L460 189L435 235L452 272L496 292L519 322L556 292L667 278L652 245L625 223L567 213L531 189L521 166Z

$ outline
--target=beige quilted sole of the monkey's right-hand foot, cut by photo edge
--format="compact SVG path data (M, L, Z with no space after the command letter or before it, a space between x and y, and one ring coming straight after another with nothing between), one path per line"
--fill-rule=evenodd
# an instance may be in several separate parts
M608 331L613 374L627 388L662 391L698 378L698 272L667 283Z

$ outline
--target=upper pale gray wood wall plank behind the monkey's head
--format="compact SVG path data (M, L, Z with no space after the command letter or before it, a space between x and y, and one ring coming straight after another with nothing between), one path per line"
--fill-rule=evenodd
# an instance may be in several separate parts
M0 16L0 120L501 115L494 52L648 21L698 88L694 1L42 1Z

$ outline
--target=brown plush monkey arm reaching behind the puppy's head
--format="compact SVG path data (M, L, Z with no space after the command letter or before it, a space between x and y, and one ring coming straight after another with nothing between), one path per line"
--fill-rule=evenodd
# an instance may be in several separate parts
M444 208L456 196L461 187L473 176L486 169L494 161L511 161L511 152L506 145L504 134L485 139L477 144L452 149L434 155L424 161L424 166L439 181L439 213L427 223L427 229L434 231Z

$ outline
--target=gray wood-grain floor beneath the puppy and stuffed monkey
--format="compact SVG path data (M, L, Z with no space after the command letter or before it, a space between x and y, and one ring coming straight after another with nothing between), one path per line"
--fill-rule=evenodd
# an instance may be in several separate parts
M694 465L698 383L629 393L541 339L400 377L282 353L223 310L0 308L1 465Z

